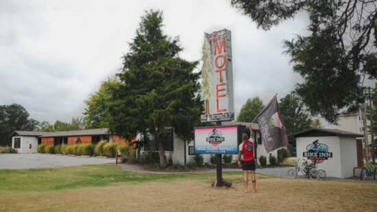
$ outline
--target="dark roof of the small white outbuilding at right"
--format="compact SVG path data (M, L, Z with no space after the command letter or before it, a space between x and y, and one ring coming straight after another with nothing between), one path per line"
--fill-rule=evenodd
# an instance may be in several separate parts
M338 129L324 129L324 128L311 128L304 130L302 132L296 132L290 134L289 137L349 137L349 138L359 138L364 137L363 134L357 134L354 132L348 132Z

